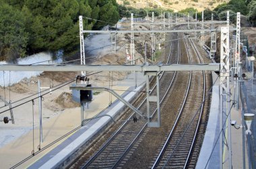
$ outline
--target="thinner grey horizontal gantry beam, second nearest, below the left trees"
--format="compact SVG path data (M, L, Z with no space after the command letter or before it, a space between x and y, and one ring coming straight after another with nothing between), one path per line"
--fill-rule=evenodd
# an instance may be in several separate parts
M187 24L187 23L186 23ZM230 28L230 30L236 30L236 28ZM203 30L84 30L83 33L101 33L101 34L117 34L117 33L179 33L179 32L220 32L220 29L203 29Z

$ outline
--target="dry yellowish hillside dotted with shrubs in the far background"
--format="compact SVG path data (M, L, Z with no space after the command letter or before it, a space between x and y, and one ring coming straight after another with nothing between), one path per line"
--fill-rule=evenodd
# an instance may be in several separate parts
M117 3L135 8L161 7L173 9L176 12L188 7L193 7L197 9L197 11L202 11L207 8L212 10L220 3L227 1L228 0L117 0Z

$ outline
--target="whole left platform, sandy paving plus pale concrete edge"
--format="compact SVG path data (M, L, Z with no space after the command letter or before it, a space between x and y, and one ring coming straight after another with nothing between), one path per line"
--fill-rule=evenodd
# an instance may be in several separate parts
M119 81L117 86L113 86L113 90L119 95L123 96L126 100L131 100L138 93L137 91L141 90L141 86L134 88L135 86L135 75L133 73L123 81ZM134 81L132 83L131 81ZM138 73L137 84L143 84L145 78L142 73ZM129 87L129 86L133 87ZM134 91L134 92L132 92ZM109 114L110 116L115 116L118 114L119 110L124 107L122 102L115 101L115 96L112 97L113 104L109 106L110 103L110 94L108 92L100 92L100 94L94 96L93 102L90 103L90 108L85 110L84 118L92 118L96 114ZM108 107L109 106L109 107ZM107 108L107 109L106 109ZM49 145L59 137L62 137L69 131L79 127L81 125L80 119L80 108L67 108L56 116L51 116L49 121L43 123L43 143L40 144L40 147L43 148L46 145ZM71 135L65 137L61 141L51 145L50 147L44 149L36 156L28 159L23 164L20 164L17 168L40 168L42 165L46 165L46 168L51 168L51 166L56 166L61 164L64 160L61 156L67 157L66 154L72 154L73 152L79 149L79 146L86 141L93 139L93 135L104 129L104 125L111 122L110 117L104 116L101 119L95 119L90 121L86 126L79 129L79 131L72 133ZM11 135L11 134L10 134ZM1 168L11 168L18 162L21 162L25 158L31 156L31 151L33 149L32 142L32 129L19 137L7 143L0 148L0 163ZM78 139L79 138L79 139ZM75 141L74 143L71 143ZM39 129L35 127L34 129L34 150L38 151L37 146L39 144ZM63 147L67 147L63 149ZM53 158L53 156L55 158ZM51 163L53 162L53 163ZM45 167L43 167L45 168Z

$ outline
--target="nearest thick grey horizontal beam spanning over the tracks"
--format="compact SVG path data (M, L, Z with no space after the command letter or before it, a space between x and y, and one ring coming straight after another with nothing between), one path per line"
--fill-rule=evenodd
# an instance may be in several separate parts
M219 63L171 65L0 65L0 71L220 71Z

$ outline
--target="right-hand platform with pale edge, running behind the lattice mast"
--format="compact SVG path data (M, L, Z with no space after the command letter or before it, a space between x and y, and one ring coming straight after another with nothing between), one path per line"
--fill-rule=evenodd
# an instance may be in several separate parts
M214 79L216 79L214 76L213 76L213 81ZM248 84L247 84L247 87L248 87ZM230 83L230 92L232 94L231 99L233 100L234 83ZM253 92L250 92L250 88L249 88L249 98L252 102L253 100L256 99L255 94L253 94ZM213 89L212 89L212 103L210 108L210 116L208 119L207 129L205 131L205 137L203 139L203 145L201 147L196 168L220 168L220 142L218 141L218 137L220 135L219 102L220 102L219 86L218 84L216 84L213 86ZM241 100L239 100L239 102L241 102ZM256 104L253 104L253 105L256 105ZM225 106L225 104L223 106ZM255 109L256 109L256 106L255 106ZM237 109L236 107L233 106L230 112L231 121L232 120L236 121L237 125L241 125L241 119L242 119L241 111L242 111L241 107ZM253 110L250 110L250 111L253 112ZM224 117L223 119L224 120L223 124L225 123L225 119L226 117ZM226 127L227 127L227 123L228 121L226 122ZM253 127L255 127L255 123ZM224 129L224 132L226 133L225 134L226 139L228 139L227 128ZM243 138L242 130L231 127L232 145L231 146L229 145L229 147L231 147L232 149L232 168L243 168L243 139L242 138ZM214 145L215 145L215 148L214 148ZM207 164L208 160L209 162ZM249 164L248 164L247 147L245 152L245 160L246 160L246 168L248 168ZM228 148L226 146L224 146L224 149L223 149L223 162L224 162L223 168L228 168Z

